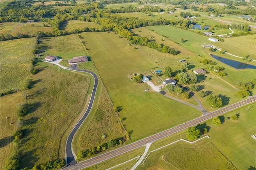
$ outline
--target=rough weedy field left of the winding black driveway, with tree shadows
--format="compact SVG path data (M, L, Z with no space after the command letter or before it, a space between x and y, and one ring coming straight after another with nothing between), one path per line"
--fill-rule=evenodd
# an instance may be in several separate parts
M32 109L22 121L25 134L20 168L63 158L58 156L62 154L60 140L82 111L90 84L87 76L49 64L32 76L32 82L32 89L27 91L27 102Z

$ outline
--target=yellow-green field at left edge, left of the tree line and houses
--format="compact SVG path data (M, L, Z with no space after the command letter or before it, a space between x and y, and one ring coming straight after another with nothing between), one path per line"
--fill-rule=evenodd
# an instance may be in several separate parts
M35 38L1 42L1 93L22 89L31 76Z

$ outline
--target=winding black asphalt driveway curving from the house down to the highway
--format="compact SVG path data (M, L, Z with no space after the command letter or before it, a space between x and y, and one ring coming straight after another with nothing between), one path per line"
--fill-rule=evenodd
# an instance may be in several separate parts
M89 114L90 110L92 109L92 104L94 102L94 97L95 97L95 93L96 93L96 89L98 86L98 77L96 76L95 73L91 72L91 71L86 71L86 70L80 70L80 69L70 69L70 70L75 70L75 71L83 71L86 73L91 74L94 77L94 86L92 89L92 95L91 95L91 99L90 99L90 103L83 115L83 117L79 120L79 122L76 124L76 126L72 129L71 133L68 136L68 140L66 142L66 160L67 160L67 167L77 164L76 160L74 159L74 156L72 154L72 149L71 149L71 144L72 144L72 140L73 137L76 133L76 131L78 130L78 128L80 127L80 125L82 125L84 119L87 117L87 115Z

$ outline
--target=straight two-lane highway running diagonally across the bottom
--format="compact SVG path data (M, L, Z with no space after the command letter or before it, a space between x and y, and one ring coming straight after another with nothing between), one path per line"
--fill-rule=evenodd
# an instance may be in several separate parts
M243 101L240 101L238 103L234 103L230 106L227 106L227 107L224 107L222 109L219 109L217 111L213 111L211 113L208 113L206 115L203 115L201 117L198 117L194 120L191 120L191 121L188 121L186 123L183 123L181 125L178 125L176 127L173 127L173 128L170 128L168 130L165 130L163 132L160 132L158 134L154 134L152 136L149 136L147 138L144 138L142 140L139 140L137 142L134 142L132 144L128 144L126 146L123 146L123 147L120 147L116 150L113 150L111 152L107 152L105 154L102 154L102 155L99 155L99 156L96 156L94 158L91 158L91 159L88 159L88 160L85 160L83 162L79 162L78 164L75 164L75 165L72 165L72 166L68 166L68 167L65 167L64 169L68 169L68 170L80 170L80 169L83 169L83 168L87 168L89 166L92 166L92 165L95 165L95 164L98 164L100 162L103 162L105 160L108 160L110 158L114 158L115 156L118 156L118 155L121 155L121 154L124 154L128 151L131 151L131 150L134 150L136 148L139 148L141 146L144 146L146 145L147 143L150 143L150 142L154 142L156 140L159 140L161 138L164 138L166 136L169 136L171 134L174 134L176 132L179 132L181 130L184 130L184 129L187 129L188 127L191 127L191 126L194 126L194 125L197 125L198 123L202 123L208 119L211 119L213 117L216 117L218 115L221 115L223 113L226 113L228 111L231 111L231 110L234 110L234 109L237 109L238 107L241 107L241 106L244 106L244 105L247 105L249 103L252 103L252 102L255 102L256 101L256 96L253 96L253 97L250 97L248 99L245 99Z

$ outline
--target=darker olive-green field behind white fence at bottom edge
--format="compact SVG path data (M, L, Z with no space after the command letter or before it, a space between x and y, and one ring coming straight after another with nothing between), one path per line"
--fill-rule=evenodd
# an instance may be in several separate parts
M207 139L194 144L180 141L161 150L152 152L142 169L222 169L236 170L237 168Z

